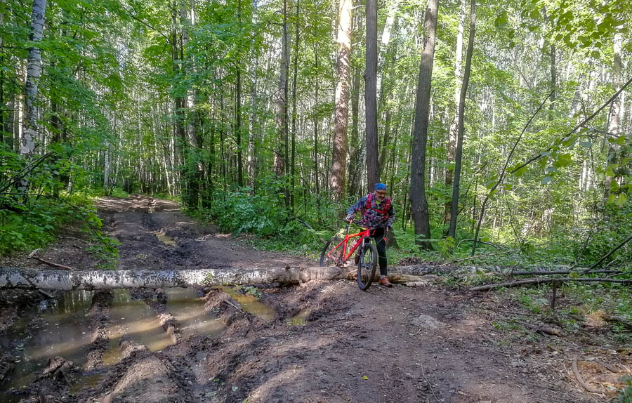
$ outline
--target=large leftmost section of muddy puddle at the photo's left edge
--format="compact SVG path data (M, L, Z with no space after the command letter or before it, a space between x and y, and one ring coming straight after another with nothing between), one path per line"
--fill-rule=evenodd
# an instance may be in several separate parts
M52 303L41 303L32 317L23 317L0 336L0 347L15 357L13 373L0 385L0 402L19 401L19 397L4 392L34 381L36 371L44 369L51 357L59 355L78 365L86 362L91 343L86 316L93 294L67 291Z

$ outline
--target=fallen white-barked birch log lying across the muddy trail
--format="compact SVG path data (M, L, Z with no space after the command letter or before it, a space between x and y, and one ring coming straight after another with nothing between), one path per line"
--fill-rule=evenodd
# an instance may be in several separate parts
M392 282L412 282L429 267L392 267ZM312 280L355 279L352 267L226 268L200 270L37 270L0 267L0 289L93 290L168 288L216 284L300 284Z

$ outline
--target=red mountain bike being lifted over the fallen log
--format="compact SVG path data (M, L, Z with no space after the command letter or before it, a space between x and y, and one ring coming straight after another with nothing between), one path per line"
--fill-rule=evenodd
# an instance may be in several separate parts
M357 234L349 234L349 222L346 222L345 237L333 237L320 252L320 265L348 267L348 259L355 253L355 263L357 264L357 286L362 291L367 291L375 277L378 253L371 238L371 229L362 228ZM357 221L354 224L360 225ZM357 239L355 239L357 238ZM349 242L355 239L353 246L348 246ZM332 247L333 246L333 247Z

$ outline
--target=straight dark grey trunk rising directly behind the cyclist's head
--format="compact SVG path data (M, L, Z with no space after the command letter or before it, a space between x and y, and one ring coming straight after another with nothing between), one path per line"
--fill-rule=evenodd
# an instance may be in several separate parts
M364 70L365 133L367 137L367 186L380 181L377 143L377 0L367 0L367 59Z

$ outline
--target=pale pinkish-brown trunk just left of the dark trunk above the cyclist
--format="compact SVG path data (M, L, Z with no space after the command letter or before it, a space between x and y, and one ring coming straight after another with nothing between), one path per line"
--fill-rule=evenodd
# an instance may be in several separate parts
M334 152L331 160L329 188L334 199L341 200L345 192L347 165L347 124L349 117L349 73L351 57L351 0L340 0L338 18L338 61L336 72Z

